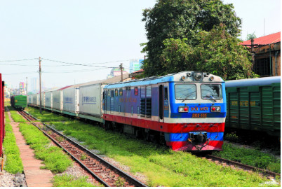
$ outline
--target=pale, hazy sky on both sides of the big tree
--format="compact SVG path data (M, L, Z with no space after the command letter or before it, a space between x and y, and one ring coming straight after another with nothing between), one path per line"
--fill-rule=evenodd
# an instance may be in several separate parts
M280 0L224 0L242 21L242 36L281 31ZM155 0L0 1L0 73L18 87L39 78L46 87L64 87L107 78L112 67L143 59L146 43L142 10ZM14 61L21 60L21 61ZM51 60L57 61L53 62ZM88 66L73 65L88 64ZM30 85L29 85L30 87Z

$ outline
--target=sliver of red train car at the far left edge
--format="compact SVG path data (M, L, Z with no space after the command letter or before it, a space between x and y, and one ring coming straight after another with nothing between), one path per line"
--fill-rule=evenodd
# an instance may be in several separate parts
M0 73L0 157L3 158L3 142L5 137L4 81ZM1 165L0 165L1 166Z

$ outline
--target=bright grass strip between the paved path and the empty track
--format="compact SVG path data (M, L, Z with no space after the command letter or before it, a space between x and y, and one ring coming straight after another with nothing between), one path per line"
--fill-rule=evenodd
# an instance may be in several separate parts
M36 127L27 123L20 123L20 132L25 141L34 149L35 157L43 160L45 166L53 173L64 172L72 165L72 160L57 146L50 146L50 140Z

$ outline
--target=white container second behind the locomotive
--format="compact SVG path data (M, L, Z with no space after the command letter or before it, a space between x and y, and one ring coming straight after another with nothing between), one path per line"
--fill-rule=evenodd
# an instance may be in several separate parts
M79 88L76 87L69 87L66 88L64 90L62 90L62 101L63 101L63 105L62 105L62 110L63 111L68 111L68 112L72 112L72 113L77 113L78 109L76 109L79 107L79 97L76 97L79 95L78 93Z

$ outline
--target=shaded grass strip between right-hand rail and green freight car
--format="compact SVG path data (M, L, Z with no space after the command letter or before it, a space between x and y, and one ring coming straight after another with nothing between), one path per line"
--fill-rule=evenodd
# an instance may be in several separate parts
M241 162L246 165L268 169L271 172L281 173L281 160L275 158L274 155L228 143L223 144L222 149L223 151L216 152L213 155Z

